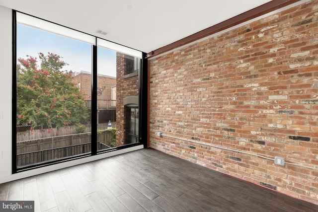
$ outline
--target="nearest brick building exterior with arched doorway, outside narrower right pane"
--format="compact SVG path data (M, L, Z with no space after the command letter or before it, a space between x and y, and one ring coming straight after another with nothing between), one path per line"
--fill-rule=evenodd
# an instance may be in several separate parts
M138 71L127 73L128 69L127 59L122 53L116 54L116 67L117 67L117 102L116 102L116 145L126 144L125 140L125 126L127 123L127 114L125 115L125 105L138 104L136 99L139 96L139 78ZM126 102L128 100L128 102ZM125 120L126 119L126 120Z

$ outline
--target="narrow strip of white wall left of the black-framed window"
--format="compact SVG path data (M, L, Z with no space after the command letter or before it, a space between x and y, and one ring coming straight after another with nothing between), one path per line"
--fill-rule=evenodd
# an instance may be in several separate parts
M12 10L0 6L0 183L11 175Z

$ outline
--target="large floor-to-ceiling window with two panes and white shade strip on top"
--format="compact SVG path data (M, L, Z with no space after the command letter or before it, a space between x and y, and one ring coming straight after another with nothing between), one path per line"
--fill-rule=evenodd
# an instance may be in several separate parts
M139 142L141 52L16 12L15 55L14 171Z

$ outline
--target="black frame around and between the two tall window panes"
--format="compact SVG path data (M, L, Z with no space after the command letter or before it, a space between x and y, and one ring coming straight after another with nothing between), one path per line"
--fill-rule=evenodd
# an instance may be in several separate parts
M81 155L77 155L77 156L72 156L72 157L68 157L68 158L63 158L63 159L58 159L58 160L54 160L54 161L50 161L50 162L43 162L41 164L34 164L34 165L29 165L27 167L23 167L23 168L18 168L17 167L17 143L16 143L16 91L17 91L17 77L16 77L16 68L17 68L17 55L16 55L16 33L17 33L17 20L16 20L16 13L20 12L20 11L16 11L16 10L12 10L12 174L14 173L18 173L18 172L22 172L22 171L26 171L26 170L31 170L31 169L36 169L36 168L40 168L40 167L45 167L45 166L50 166L53 164L58 164L58 163L63 163L66 161L70 161L70 160L75 160L75 159L79 159L79 158L83 158L83 157L89 157L89 156L93 156L96 154L103 154L106 152L110 152L110 151L116 151L119 149L123 149L123 148L128 148L128 147L132 147L132 146L137 146L137 145L143 145L144 147L147 147L147 140L143 139L143 138L147 138L147 131L143 131L142 133L139 133L139 138L137 143L131 143L131 144L126 144L126 145L122 145L122 146L117 146L111 149L105 149L105 150L99 150L97 151L97 46L96 45L92 45L92 95L91 95L91 101L92 101L92 109L91 109L91 153L86 153L86 154L81 154ZM23 12L20 12L22 14L26 14ZM29 15L29 14L26 14ZM31 15L30 15L31 16ZM32 16L34 17L34 16ZM38 17L36 17L38 18ZM41 18L39 18L41 19ZM43 20L43 19L42 19ZM48 20L45 20L48 21ZM48 21L51 22L51 21ZM54 22L51 22L54 23ZM56 23L54 23L56 24ZM57 24L60 25L60 24ZM63 25L60 25L63 26ZM63 26L65 27L65 26ZM69 28L69 27L67 27ZM72 28L69 28L72 29ZM74 31L78 31L75 29L72 29ZM80 31L78 31L80 32ZM84 33L84 32L81 32ZM87 33L84 33L87 34ZM88 34L89 35L89 34ZM95 40L97 39L103 39L94 35L91 35L93 37L95 37ZM103 39L105 40L105 39ZM118 44L119 45L119 44ZM142 117L147 117L147 109L148 107L142 107L141 102L148 102L148 83L147 83L147 78L148 78L148 60L147 60L147 53L142 52L142 59L141 59L141 64L139 64L139 102L140 102L140 107L139 107L139 120L141 120L139 122L139 132L140 129L142 128L147 128L148 125L148 120L147 118L142 120Z

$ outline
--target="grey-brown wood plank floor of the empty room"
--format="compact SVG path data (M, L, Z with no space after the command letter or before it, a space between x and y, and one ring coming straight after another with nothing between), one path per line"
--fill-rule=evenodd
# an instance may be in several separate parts
M148 148L0 184L41 212L318 212L318 206Z

